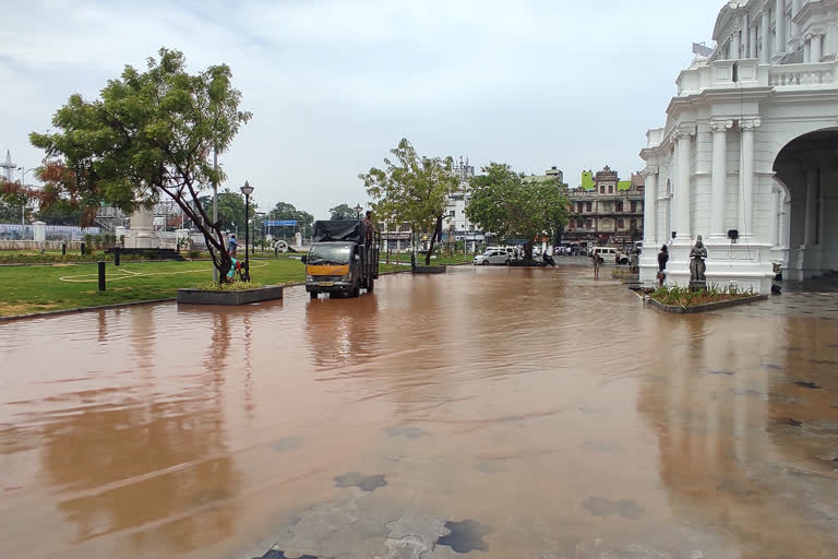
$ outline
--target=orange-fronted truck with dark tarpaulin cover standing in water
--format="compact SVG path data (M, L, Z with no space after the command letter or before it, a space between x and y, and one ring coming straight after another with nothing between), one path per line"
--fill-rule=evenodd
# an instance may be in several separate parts
M314 242L306 264L306 290L312 299L321 293L358 297L372 293L379 277L379 246L374 231L360 219L314 222Z

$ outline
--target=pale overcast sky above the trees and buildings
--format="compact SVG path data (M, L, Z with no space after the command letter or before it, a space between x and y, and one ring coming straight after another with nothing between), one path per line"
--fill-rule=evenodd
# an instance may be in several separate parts
M253 120L220 159L225 186L249 180L262 210L284 201L326 217L366 203L358 174L402 138L478 168L555 165L572 187L604 165L628 178L723 3L5 1L0 150L38 165L28 132L166 46L192 71L231 67Z

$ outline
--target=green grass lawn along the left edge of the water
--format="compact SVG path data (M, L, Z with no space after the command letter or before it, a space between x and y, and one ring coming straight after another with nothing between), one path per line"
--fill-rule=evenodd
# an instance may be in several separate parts
M381 272L404 270L384 265ZM251 277L265 285L303 282L299 260L251 261ZM211 262L123 262L106 269L107 290L98 292L95 263L0 266L0 317L175 297L179 287L212 281Z

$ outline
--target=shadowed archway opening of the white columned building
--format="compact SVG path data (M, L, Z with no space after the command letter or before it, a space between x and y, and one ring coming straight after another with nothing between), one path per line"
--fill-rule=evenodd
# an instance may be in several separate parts
M791 140L777 154L774 171L787 189L786 224L778 223L788 239L787 276L807 280L838 270L838 221L829 218L838 215L838 128Z

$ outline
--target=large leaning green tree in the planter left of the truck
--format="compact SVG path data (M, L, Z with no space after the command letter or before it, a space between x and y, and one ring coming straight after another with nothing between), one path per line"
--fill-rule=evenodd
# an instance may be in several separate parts
M223 278L231 264L223 227L197 201L225 178L213 151L226 151L251 114L239 110L241 93L226 64L190 74L181 52L161 48L158 56L145 72L127 66L100 98L71 95L52 118L58 132L33 132L29 141L46 152L46 188L86 212L103 202L131 213L163 195L175 200L204 235Z

